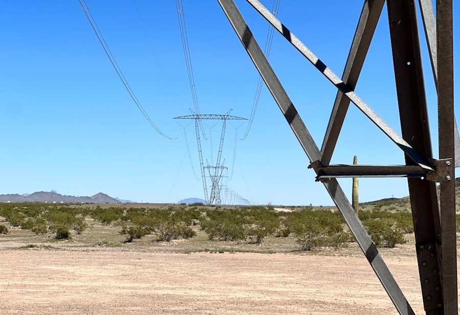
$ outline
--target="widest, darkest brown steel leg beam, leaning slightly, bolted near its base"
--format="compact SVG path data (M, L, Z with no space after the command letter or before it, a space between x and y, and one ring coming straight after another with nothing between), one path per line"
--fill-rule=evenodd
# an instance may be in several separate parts
M431 159L415 3L387 0L387 8L402 135L425 159ZM407 165L414 164L407 156L405 159ZM436 184L408 178L408 186L423 304L427 314L444 314L440 289L442 248ZM432 259L428 260L427 257Z

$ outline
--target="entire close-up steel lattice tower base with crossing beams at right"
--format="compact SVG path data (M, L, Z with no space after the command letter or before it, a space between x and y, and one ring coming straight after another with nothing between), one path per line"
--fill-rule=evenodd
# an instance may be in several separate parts
M402 315L415 314L336 178L407 178L425 313L457 315L454 167L460 166L460 141L454 118L453 1L436 0L436 15L432 0L418 1L423 22L420 24L423 25L432 66L431 80L434 79L438 92L439 159L433 159L431 149L416 1L364 0L340 79L258 0L246 0L338 89L321 148L313 140L234 1L217 1L308 156L310 168L316 173L316 180L322 182L329 192L398 312ZM355 93L356 83L385 2L401 135ZM305 2L305 6L308 6L308 2ZM325 2L325 8L330 9L332 6ZM326 12L327 10L327 18ZM316 32L316 29L312 32ZM350 103L402 150L404 165L330 164ZM310 113L313 115L316 110L322 109L314 108ZM439 183L439 200L436 183Z

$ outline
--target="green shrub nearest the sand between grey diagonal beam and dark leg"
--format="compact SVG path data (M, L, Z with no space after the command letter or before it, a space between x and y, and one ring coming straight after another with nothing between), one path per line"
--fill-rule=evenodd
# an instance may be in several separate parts
M363 224L376 246L394 248L406 243L402 230L392 220L366 220Z

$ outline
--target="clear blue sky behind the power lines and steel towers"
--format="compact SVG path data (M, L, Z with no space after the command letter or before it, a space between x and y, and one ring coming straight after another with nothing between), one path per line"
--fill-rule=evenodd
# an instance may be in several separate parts
M258 73L217 1L184 0L196 91L202 114L249 117ZM99 191L137 202L203 198L193 124L173 117L193 108L174 1L87 0L130 87L167 140L148 124L113 70L75 1L14 1L0 12L3 60L0 70L2 180L0 193L57 190L90 196ZM267 22L245 1L236 1L264 46ZM271 8L272 1L262 1ZM362 2L283 1L279 18L326 65L341 76ZM460 11L454 7L454 38ZM434 156L436 96L421 37ZM454 56L458 58L458 41ZM158 61L158 62L157 62ZM312 133L323 141L336 90L280 34L274 34L270 62ZM458 91L458 62L455 90ZM400 132L386 8L366 58L357 94ZM457 96L457 95L456 95ZM458 100L458 97L456 98ZM182 125L187 122L182 121ZM214 123L206 123L212 127ZM214 161L221 123L202 139L203 157ZM222 159L228 188L252 204L332 205L323 185L307 169L308 158L264 86L251 131L237 141L227 124ZM246 126L239 128L239 137ZM206 133L210 129L205 127ZM214 153L211 154L211 147ZM353 105L332 163L403 164L401 151ZM210 184L210 182L208 182ZM351 179L340 180L351 194ZM408 195L405 179L360 179L360 201Z

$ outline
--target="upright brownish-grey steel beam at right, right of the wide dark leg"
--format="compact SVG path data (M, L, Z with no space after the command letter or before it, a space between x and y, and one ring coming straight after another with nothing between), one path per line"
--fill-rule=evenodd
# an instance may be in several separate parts
M438 56L438 128L439 157L455 157L453 89L453 16L452 0L436 0L436 35ZM451 171L454 165L450 165ZM444 314L458 313L457 252L455 234L455 181L441 182L441 241Z

